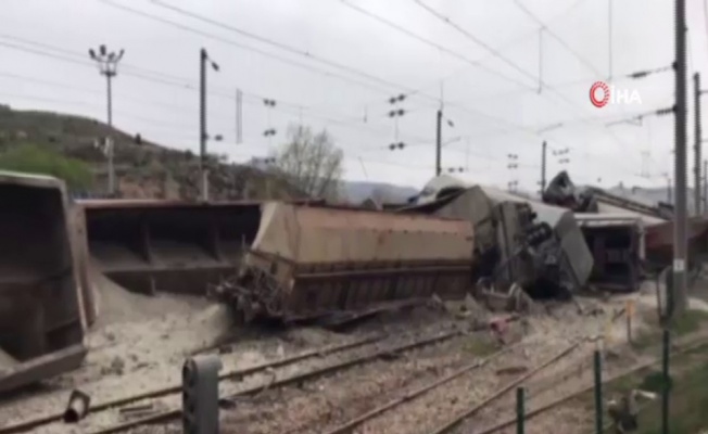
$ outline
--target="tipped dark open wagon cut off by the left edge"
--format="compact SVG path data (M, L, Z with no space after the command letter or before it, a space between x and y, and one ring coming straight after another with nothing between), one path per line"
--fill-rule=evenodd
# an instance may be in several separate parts
M0 173L0 197L4 392L77 368L87 319L63 182Z

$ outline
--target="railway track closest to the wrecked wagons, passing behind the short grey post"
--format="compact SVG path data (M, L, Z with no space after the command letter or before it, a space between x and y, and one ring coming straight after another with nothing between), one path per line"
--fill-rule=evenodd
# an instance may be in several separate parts
M315 348L271 362L225 372L219 375L222 384L227 383L238 386L242 384L244 379L251 379L252 376L254 376L254 381L251 381L251 383L255 384L242 387L237 392L229 394L228 396L223 396L222 399L225 401L235 400L243 397L252 397L266 390L271 391L289 385L300 385L304 382L313 381L326 375L344 371L353 367L380 360L382 358L390 358L392 356L401 355L425 346L439 344L458 336L466 335L468 333L473 333L482 329L485 328L480 327L476 330L454 329L439 331L435 333L428 333L427 335L422 336L420 333L402 333L388 336L372 335L345 344ZM321 363L324 366L318 365L317 367L311 369L296 369L299 363L311 360L316 360L317 363ZM293 369L295 372L289 372ZM258 378L258 375L263 376L262 381L255 381L255 378ZM99 401L98 404L91 406L89 414L86 419L94 418L97 416L100 417L98 413L109 410L116 411L119 410L119 408L128 405L150 401L156 398L176 397L180 393L181 385L174 384L168 387L149 391L147 393L131 395L119 399ZM117 433L143 424L169 421L178 418L180 414L181 409L175 407L131 421L101 427L92 432L94 434ZM43 425L61 421L62 418L63 412L58 412L33 420L14 423L12 425L1 426L0 434L15 434L30 430L34 431L36 429L42 427ZM78 426L80 427L80 422ZM85 431L91 432L90 430Z

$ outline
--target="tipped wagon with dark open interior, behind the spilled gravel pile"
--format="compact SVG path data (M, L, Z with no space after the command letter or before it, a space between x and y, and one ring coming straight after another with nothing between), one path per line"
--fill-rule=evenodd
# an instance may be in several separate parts
M260 203L81 201L90 261L128 290L205 294L233 273L258 229Z

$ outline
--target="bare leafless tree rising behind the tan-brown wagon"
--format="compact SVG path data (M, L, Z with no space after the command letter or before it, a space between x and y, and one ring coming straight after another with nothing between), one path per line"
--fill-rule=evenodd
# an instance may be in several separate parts
M344 153L327 131L291 126L288 143L275 152L274 167L303 193L328 201L340 196Z

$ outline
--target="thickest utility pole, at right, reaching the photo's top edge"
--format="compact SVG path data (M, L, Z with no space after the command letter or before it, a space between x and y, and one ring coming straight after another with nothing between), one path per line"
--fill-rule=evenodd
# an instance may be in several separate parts
M673 220L673 305L677 312L686 307L686 1L675 0L675 189Z

